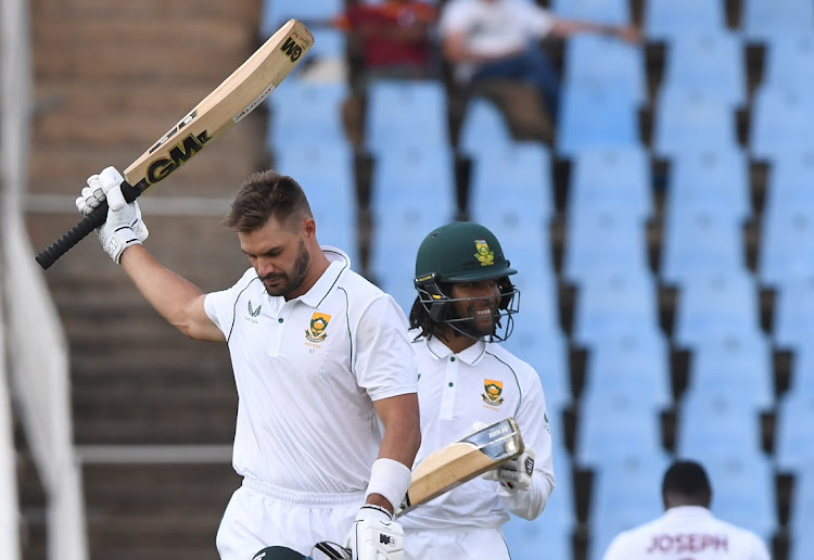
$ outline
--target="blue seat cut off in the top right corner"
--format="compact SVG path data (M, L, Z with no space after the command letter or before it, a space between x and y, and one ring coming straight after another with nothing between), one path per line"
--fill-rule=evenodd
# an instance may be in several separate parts
M809 0L743 0L741 29L755 42L789 34L814 34L814 4Z

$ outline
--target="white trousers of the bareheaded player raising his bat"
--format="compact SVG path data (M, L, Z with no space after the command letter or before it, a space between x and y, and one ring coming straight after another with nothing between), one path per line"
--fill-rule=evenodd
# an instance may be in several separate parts
M344 545L364 502L365 492L314 494L244 479L218 527L220 560L252 560L268 546L308 556L320 540Z

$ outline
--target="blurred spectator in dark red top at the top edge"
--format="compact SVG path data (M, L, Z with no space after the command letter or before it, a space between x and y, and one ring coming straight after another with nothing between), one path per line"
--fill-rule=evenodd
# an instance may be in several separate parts
M435 75L433 5L414 0L358 1L334 21L360 50L363 77L428 78Z

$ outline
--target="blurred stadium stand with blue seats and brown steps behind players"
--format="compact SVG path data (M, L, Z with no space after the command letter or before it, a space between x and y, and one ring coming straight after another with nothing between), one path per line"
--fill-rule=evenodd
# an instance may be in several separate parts
M538 520L507 525L512 558L598 558L618 531L659 513L671 456L702 461L713 511L763 535L774 558L814 558L814 2L540 3L645 37L545 43L563 78L551 145L514 140L494 105L463 103L446 79L371 85L357 99L364 118L348 120L338 69L357 61L341 35L315 29L309 64L266 111L142 199L150 249L204 290L230 285L245 264L220 216L246 174L274 165L306 189L320 240L408 305L420 238L454 217L480 220L520 270L508 346L539 372L556 436L557 491ZM30 37L12 29L13 5ZM341 8L4 2L4 227L24 212L33 260L76 221L90 173L125 167L281 18ZM26 60L14 55L29 39L33 91L15 99ZM21 120L30 144L11 126ZM16 175L15 142L29 145ZM21 341L44 340L20 317L50 302L15 290L25 267L3 236L3 488L18 504L7 556L216 558L238 483L228 356L165 326L92 240L31 272L64 328L69 393L53 398L69 395L73 446L60 457L77 461L87 523L87 543L59 549L61 466L44 464L54 450L29 407L53 386L26 385L40 372L18 359Z

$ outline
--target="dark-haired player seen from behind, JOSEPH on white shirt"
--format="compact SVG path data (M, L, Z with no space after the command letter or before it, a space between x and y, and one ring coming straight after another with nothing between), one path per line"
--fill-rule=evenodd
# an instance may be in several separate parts
M712 487L703 467L675 461L661 486L664 514L620 533L603 560L658 556L663 560L770 560L763 540L745 529L721 521L710 512Z

